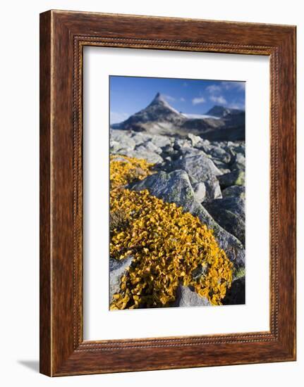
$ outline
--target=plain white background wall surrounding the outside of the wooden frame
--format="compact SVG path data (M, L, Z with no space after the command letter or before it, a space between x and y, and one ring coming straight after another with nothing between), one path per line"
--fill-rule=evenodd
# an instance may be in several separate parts
M298 25L298 362L49 379L37 373L39 12L49 8ZM1 384L4 386L300 385L304 367L304 21L301 2L6 1L1 8ZM2 31L3 29L3 31ZM299 381L298 381L299 379Z

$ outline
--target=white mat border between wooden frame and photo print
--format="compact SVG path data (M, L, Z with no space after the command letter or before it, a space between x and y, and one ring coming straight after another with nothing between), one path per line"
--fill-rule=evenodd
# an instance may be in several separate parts
M269 58L102 47L84 55L84 338L269 331ZM109 310L110 74L246 82L245 305Z

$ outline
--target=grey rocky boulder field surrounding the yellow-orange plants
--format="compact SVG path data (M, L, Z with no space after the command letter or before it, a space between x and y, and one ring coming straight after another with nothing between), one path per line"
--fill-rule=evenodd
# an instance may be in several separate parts
M209 141L188 134L178 138L110 129L110 153L152 163L152 174L131 182L128 189L142 191L206 224L219 247L233 263L233 281L223 304L245 303L245 141ZM110 302L119 291L121 276L132 258L110 258ZM197 275L204 275L202 269ZM170 306L210 305L191 286L178 286Z

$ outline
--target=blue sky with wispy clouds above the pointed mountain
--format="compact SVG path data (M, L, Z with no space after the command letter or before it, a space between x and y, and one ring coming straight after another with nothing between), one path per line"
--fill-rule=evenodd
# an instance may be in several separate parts
M145 108L157 92L188 114L204 114L214 105L245 108L245 82L110 76L111 124Z

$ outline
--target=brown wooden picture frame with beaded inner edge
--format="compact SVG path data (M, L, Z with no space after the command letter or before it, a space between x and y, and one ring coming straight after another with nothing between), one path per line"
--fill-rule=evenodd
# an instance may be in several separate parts
M83 46L270 58L270 330L83 341ZM296 27L135 15L40 15L40 372L296 360Z

